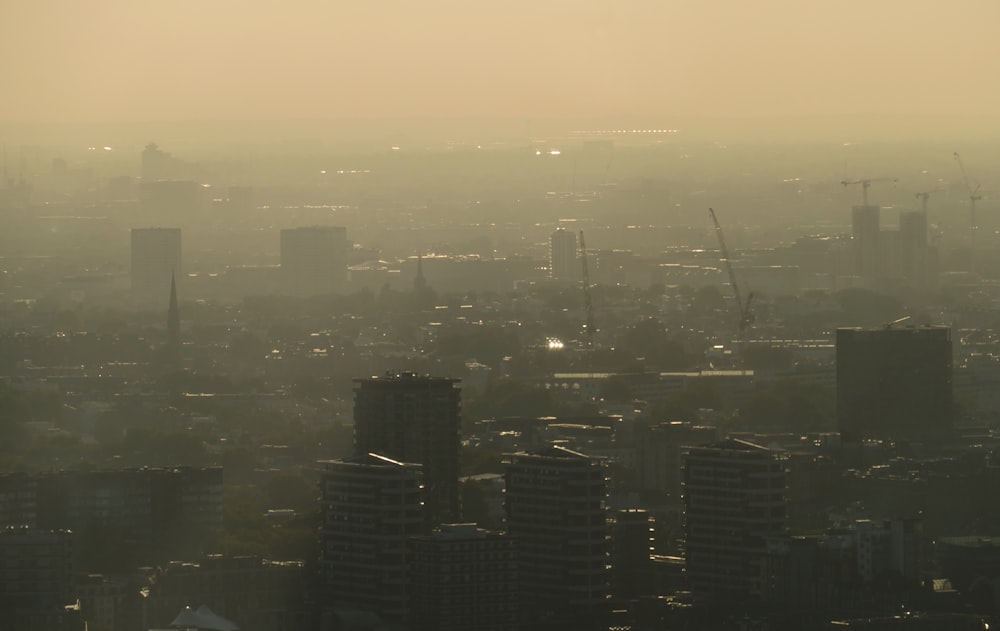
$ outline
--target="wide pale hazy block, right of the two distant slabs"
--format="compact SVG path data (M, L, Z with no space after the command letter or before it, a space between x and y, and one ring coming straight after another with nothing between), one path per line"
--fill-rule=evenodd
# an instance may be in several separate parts
M308 226L281 231L281 275L295 295L329 294L347 280L347 229Z

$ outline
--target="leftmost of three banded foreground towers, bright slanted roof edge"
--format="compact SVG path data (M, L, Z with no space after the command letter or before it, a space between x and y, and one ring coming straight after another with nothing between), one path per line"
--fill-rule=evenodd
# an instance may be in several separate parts
M324 602L408 620L408 539L423 534L425 523L420 465L365 454L324 466Z

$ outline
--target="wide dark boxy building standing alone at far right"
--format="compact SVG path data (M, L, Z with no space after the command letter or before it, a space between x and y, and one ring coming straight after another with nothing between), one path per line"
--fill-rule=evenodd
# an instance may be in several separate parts
M845 440L915 438L953 422L951 329L837 329L837 424Z

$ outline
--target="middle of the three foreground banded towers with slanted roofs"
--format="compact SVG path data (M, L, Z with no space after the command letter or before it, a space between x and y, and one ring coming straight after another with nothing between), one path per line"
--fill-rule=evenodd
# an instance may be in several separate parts
M604 462L555 445L504 461L525 621L593 623L610 578Z

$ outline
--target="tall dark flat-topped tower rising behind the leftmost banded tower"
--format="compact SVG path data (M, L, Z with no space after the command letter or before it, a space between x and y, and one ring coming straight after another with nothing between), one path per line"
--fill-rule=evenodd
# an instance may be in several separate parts
M355 455L423 465L428 526L459 521L459 380L404 372L354 382Z

